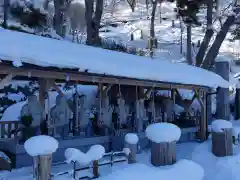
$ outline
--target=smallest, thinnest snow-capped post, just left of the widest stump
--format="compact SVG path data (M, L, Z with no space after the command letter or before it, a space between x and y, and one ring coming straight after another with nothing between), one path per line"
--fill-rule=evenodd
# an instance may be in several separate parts
M125 135L125 148L129 149L128 164L136 163L138 141L139 138L135 133L128 133Z

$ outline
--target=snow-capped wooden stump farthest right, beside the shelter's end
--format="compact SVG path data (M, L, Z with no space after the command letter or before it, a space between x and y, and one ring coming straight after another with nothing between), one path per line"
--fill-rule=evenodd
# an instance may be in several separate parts
M212 122L212 153L217 157L233 155L231 122L220 119Z

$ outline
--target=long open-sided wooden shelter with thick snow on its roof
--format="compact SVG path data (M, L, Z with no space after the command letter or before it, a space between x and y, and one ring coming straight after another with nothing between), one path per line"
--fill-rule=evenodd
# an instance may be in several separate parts
M100 101L98 106L100 111L97 118L98 125L105 123L105 115L102 110L104 103L102 101L105 96L109 95L107 92L111 91L112 87L119 87L118 96L121 96L121 87L136 90L133 90L135 92L133 94L135 101L139 103L142 102L140 101L141 99L144 101L145 96L147 97L148 94L152 94L152 99L150 99L155 102L154 98L157 97L155 97L154 92L161 90L169 91L169 97L174 102L175 98L180 96L178 90L187 89L194 94L190 104L193 100L197 100L200 104L200 119L196 130L198 131L198 138L204 141L207 138L208 131L207 92L209 92L209 89L217 87L226 88L229 85L227 81L213 72L186 64L174 64L164 59L152 60L147 57L112 52L101 48L4 29L0 29L0 40L1 88L12 79L36 80L39 82L39 103L44 108L45 93L54 87L55 83L69 82L96 85L98 86L98 97L100 98L98 99ZM142 89L142 92L140 92L140 89ZM138 106L140 105L138 104ZM78 111L77 109L76 111ZM153 121L151 122L161 121L161 119L157 119L155 116L156 106L154 104L152 109L154 110L152 111ZM184 109L188 111L189 106L186 105ZM142 111L143 109L139 113L141 114ZM49 117L43 118L48 120ZM124 117L120 118L124 119ZM174 119L172 121L174 122ZM140 134L144 132L142 119L137 118L134 122L135 126L131 131ZM16 155L17 167L29 165L31 159L27 160L23 145L14 145L18 144L17 137L14 137L14 135L6 137L6 134L3 133L11 131L13 127L16 128L18 123L9 119L8 122L0 121L0 126L2 129L0 147L2 148L2 144L4 144L2 150ZM81 126L81 121L74 120L73 126L73 129ZM113 127L111 122L109 127ZM15 135L17 136L17 134ZM101 137L88 136L83 138L77 133L73 134L60 141L60 148L55 153L55 157L53 157L54 161L59 162L64 158L61 157L64 154L64 148L79 147L84 151L84 149L96 143L110 146L109 143L113 141L115 136L117 135L113 133L105 133ZM144 135L141 137L144 139Z

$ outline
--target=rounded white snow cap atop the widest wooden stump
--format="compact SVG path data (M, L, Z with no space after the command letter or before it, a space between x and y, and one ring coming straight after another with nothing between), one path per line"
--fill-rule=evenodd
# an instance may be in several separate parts
M171 123L155 123L146 129L146 136L153 142L178 141L181 136L181 129Z

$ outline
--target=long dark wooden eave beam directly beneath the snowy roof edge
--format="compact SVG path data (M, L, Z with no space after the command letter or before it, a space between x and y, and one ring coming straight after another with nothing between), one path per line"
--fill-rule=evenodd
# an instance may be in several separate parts
M102 84L120 84L120 85L130 85L130 86L141 86L141 87L156 87L156 88L169 88L174 89L199 89L204 88L198 85L184 85L177 83L167 83L159 81L149 81L149 80L139 80L133 78L125 77L116 77L116 76L106 76L106 75L97 75L91 73L67 73L60 71L51 71L51 70L37 70L37 69L27 69L27 68L16 68L9 66L0 66L0 74L8 74L13 72L16 76L25 76L25 77L37 77L45 79L56 79L56 80L66 80L66 75L68 75L70 81L83 81L90 82L93 84L102 83ZM205 87L208 88L208 87Z

